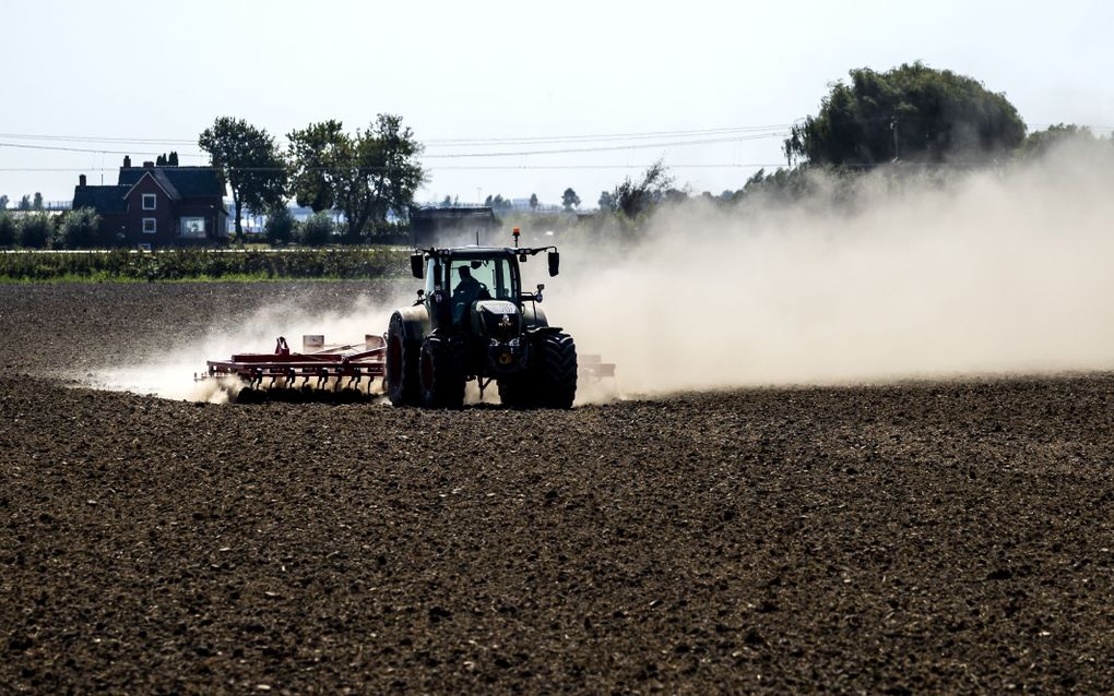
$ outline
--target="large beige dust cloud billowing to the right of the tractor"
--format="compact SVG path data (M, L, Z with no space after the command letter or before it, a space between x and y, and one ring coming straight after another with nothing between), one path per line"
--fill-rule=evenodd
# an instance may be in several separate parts
M818 179L792 206L697 199L618 257L564 246L546 308L620 394L1111 370L1110 150Z

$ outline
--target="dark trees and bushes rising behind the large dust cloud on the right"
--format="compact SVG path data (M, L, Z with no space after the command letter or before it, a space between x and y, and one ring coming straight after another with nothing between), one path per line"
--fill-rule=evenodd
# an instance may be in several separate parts
M851 180L880 166L896 171L947 173L1032 160L1059 144L1114 145L1086 127L1054 125L1028 131L1004 94L980 81L921 62L878 72L850 70L832 84L817 115L794 125L782 150L786 166L759 169L737 189L698 197L739 204L751 196L793 202L814 192L813 171ZM1112 148L1114 151L1114 148ZM673 186L661 161L599 196L602 212L636 220L661 204L693 197Z

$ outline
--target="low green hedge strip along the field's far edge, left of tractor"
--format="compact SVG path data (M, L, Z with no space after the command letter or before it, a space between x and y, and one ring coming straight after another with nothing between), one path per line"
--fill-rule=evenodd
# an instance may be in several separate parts
M0 283L370 280L408 268L394 247L343 249L173 249L4 252Z

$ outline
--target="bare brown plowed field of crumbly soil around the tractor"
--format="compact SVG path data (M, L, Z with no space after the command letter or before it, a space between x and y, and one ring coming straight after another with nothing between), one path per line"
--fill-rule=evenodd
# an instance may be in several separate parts
M0 692L1114 690L1110 374L569 412L65 381L361 290L0 286Z

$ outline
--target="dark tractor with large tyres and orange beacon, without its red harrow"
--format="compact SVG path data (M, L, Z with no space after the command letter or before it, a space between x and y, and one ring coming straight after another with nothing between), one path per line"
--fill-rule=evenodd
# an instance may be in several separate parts
M557 275L555 246L463 246L416 251L411 272L424 280L412 306L397 310L387 330L384 389L394 405L456 409L465 384L482 398L494 381L511 408L569 409L576 398L573 337L550 326L544 284L522 288L520 264L545 254Z

